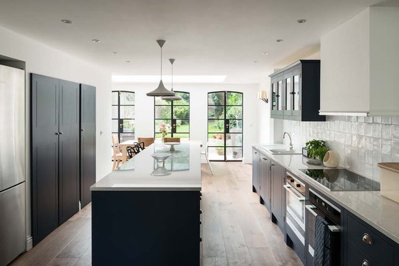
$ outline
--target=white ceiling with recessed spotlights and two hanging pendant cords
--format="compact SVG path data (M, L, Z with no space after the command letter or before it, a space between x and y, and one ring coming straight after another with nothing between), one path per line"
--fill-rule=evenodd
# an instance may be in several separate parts
M258 83L274 68L317 52L320 36L381 2L2 0L0 26L126 75L158 75L156 40L165 39L165 74L167 59L175 58L175 75L227 75L225 83ZM302 18L305 24L295 22ZM262 55L265 51L270 54Z

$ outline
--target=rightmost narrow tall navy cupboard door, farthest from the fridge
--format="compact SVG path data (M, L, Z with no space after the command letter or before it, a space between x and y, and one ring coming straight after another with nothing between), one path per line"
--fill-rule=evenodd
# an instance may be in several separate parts
M80 203L92 201L96 183L96 87L80 84Z

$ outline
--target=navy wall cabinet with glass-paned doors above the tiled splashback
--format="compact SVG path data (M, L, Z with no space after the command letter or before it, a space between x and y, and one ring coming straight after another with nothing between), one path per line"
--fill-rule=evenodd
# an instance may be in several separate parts
M299 60L272 75L271 117L325 121L320 109L320 60Z

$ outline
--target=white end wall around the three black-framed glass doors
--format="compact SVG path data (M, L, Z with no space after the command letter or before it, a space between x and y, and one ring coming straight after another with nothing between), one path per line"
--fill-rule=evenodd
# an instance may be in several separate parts
M113 90L132 91L136 97L136 136L152 137L154 134L154 100L145 94L154 90L158 84L120 84L113 83ZM170 87L170 84L165 84ZM257 84L176 84L175 91L190 93L190 139L207 141L208 92L234 91L243 93L243 162L251 162L252 144L257 143L258 103Z

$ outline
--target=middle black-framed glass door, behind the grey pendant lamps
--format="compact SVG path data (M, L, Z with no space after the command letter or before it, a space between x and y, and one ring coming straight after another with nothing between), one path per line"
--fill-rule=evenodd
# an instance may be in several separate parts
M154 137L161 139L159 132L161 123L165 123L168 130L168 138L190 138L190 93L176 92L182 100L162 100L154 97Z

